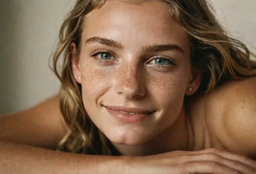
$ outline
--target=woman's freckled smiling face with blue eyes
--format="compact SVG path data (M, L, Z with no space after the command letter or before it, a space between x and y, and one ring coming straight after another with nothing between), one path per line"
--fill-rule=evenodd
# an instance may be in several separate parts
M107 1L86 16L73 73L87 114L110 141L141 144L173 124L193 87L190 48L159 1Z

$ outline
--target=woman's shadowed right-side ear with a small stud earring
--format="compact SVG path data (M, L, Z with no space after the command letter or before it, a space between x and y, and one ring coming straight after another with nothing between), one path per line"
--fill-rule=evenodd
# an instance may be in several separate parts
M194 73L190 79L190 82L187 84L187 89L186 89L186 95L191 96L193 95L199 88L201 84L201 73L197 71Z

